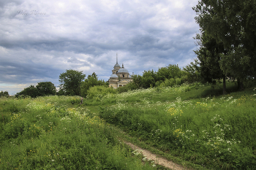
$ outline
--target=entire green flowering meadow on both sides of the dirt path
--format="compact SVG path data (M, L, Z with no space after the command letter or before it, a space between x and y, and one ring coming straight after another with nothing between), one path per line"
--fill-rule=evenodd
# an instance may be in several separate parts
M256 90L148 88L86 98L0 98L0 169L164 169L129 140L193 169L256 169Z

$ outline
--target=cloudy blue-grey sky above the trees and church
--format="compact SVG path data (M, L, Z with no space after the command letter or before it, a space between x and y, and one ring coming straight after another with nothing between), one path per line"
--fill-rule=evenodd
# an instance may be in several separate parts
M116 64L143 75L192 62L197 0L1 0L0 91L59 85L68 69L108 81Z

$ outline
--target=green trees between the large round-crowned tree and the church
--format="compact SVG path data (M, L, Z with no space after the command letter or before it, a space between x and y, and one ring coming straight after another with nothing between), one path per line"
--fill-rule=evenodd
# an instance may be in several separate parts
M107 82L104 80L98 80L97 74L93 73L81 83L81 96L86 97L88 95L89 88L94 87L95 85L105 85L105 87L108 87Z

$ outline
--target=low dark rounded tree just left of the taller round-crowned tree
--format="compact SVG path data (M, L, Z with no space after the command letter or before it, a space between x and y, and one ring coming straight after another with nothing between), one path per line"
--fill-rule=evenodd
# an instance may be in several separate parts
M36 88L39 96L56 95L56 87L52 82L38 82Z

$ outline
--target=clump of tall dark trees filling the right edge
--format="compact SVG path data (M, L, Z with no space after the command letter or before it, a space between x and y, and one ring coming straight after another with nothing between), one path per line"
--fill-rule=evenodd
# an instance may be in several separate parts
M256 75L256 3L251 0L200 0L193 7L200 26L196 63L203 80L230 77L239 90Z

